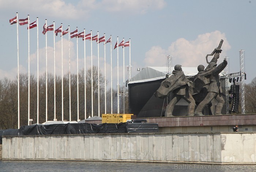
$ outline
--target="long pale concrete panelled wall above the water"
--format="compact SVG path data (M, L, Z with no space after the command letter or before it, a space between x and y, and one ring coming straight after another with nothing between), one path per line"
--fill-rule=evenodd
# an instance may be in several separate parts
M3 136L3 160L255 163L255 134L125 133Z

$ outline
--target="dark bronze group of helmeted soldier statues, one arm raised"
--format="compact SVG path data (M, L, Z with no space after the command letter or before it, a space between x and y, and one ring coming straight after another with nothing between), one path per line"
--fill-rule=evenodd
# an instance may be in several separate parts
M200 64L197 67L198 73L191 80L186 78L180 64L174 66L173 75L166 78L155 92L155 96L159 98L166 97L171 92L173 93L173 98L166 107L165 117L174 117L174 106L181 98L189 103L186 116L203 116L204 107L208 104L213 105L214 99L217 101L217 105L215 108L212 108L212 111L214 111L212 114L221 115L225 101L222 97L219 73L227 66L226 60L223 60L217 66L217 60L222 51L222 43L223 40L221 40L219 46L211 54L207 54L206 62L208 66L205 68ZM208 62L209 55L214 55L210 62Z

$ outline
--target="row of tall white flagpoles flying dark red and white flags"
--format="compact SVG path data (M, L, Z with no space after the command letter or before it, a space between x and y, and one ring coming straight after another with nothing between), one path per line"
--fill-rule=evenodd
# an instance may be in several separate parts
M16 16L12 19L10 19L10 24L17 24L17 22L19 23L20 26L23 26L25 24L28 24L27 30L28 30L28 61L29 61L29 78L28 78L28 125L30 124L30 47L29 47L29 30L37 27L37 124L39 123L39 66L38 66L38 62L39 62L39 54L38 54L38 17L37 20L30 23L30 17L28 15L28 17L26 19L18 19L18 12L16 13ZM30 24L29 24L30 23ZM47 32L48 31L54 31L54 34L57 36L58 33L61 34L61 98L62 98L62 116L61 119L62 121L64 120L63 117L63 36L68 34L68 42L69 42L69 121L71 121L71 81L70 81L70 38L76 38L76 55L77 55L77 102L79 102L79 85L78 85L78 38L82 38L84 40L84 118L86 119L86 51L85 51L85 40L91 40L91 116L93 117L93 50L92 50L92 41L95 40L98 44L98 116L99 114L99 43L104 42L104 80L105 80L105 114L106 114L106 43L110 43L110 63L111 63L111 114L113 113L113 82L112 82L112 35L110 35L110 38L105 41L105 34L104 36L99 38L99 32L97 33L97 35L92 36L92 31L89 34L85 34L85 29L83 32L78 33L78 27L76 27L76 30L73 32L70 32L69 30L69 26L67 28L67 30L62 30L62 23L61 26L59 28L57 28L55 30L55 24L53 21L53 24L50 26L47 26L47 20L45 19L45 24L43 26L43 31L42 34L45 35L46 38L46 43L45 43L45 47L46 47L46 121L48 121L48 107L47 107L47 101L48 101L48 97L47 97L47 92L48 92L48 71L47 71ZM128 42L124 42L124 38L123 41L121 41L121 43L118 43L118 36L117 36L117 42L114 46L114 49L117 48L117 93L119 93L119 74L118 74L118 47L129 47L129 66L128 66L128 70L131 70L131 39L129 39ZM56 121L56 71L55 71L55 36L53 35L53 52L54 52L54 121ZM17 56L18 56L18 128L20 127L20 112L19 112L19 31L18 31L18 24L17 24ZM123 48L123 70L124 70L125 66L124 66L124 48ZM128 71L129 72L129 71ZM125 72L123 71L123 74ZM131 77L128 74L129 77ZM131 79L129 78L128 79ZM124 78L124 75L123 75ZM125 78L123 80L123 83L125 83ZM124 86L123 86L123 93L125 93L124 90ZM117 94L117 113L119 114L119 94ZM123 96L124 98L124 96ZM124 109L125 109L125 101L124 102ZM77 103L77 120L79 121L79 103ZM125 113L125 111L124 111Z

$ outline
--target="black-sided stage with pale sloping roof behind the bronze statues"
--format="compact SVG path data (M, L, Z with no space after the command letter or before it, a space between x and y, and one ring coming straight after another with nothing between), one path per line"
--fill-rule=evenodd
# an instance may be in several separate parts
M166 79L167 67L145 67L128 82L129 88L129 113L137 115L137 118L164 117L166 106L172 99L172 94L165 99L155 97L154 93ZM197 67L183 67L185 76L192 79L198 73ZM225 90L225 75L220 73L221 86ZM225 94L223 95L225 96ZM184 116L187 113L188 103L181 99L174 107L173 114ZM222 109L225 114L225 108ZM183 115L182 115L183 114ZM210 107L206 107L204 114L211 114Z

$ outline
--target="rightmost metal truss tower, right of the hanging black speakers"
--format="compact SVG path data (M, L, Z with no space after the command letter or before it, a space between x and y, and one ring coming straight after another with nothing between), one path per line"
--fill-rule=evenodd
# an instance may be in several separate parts
M244 63L244 50L239 50L240 56L240 83L241 83L241 110L245 114L245 93L244 93L244 79L245 79L245 63Z

